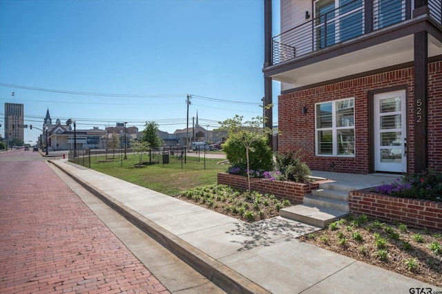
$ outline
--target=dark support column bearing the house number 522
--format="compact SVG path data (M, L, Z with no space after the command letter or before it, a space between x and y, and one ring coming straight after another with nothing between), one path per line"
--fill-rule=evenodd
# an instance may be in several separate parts
M428 167L428 33L414 34L414 172Z

